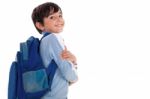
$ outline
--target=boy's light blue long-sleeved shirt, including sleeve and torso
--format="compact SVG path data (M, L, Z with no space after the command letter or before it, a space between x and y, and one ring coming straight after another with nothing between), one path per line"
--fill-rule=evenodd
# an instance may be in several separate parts
M60 57L64 45L58 40L57 35L52 33L44 37L40 44L40 53L44 65L47 67L52 59L54 59L58 65L51 91L42 99L66 99L69 86L68 82L77 80L76 69L72 63Z

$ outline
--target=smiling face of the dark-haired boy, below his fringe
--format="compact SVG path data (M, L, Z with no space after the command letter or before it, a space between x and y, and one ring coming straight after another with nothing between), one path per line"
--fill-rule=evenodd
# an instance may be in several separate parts
M53 33L62 32L64 27L64 19L62 17L61 11L59 10L58 12L53 13L48 17L45 17L42 26L43 26L42 31L45 32L53 32Z

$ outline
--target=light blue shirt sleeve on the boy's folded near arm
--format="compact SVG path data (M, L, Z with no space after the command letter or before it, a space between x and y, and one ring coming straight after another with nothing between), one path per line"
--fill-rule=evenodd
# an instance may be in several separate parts
M51 38L49 40L50 44L48 45L48 49L50 50L50 52L52 52L52 57L58 65L62 76L69 82L75 82L78 79L76 69L69 61L61 58L61 52L63 51L63 48L59 44L56 36L51 35Z

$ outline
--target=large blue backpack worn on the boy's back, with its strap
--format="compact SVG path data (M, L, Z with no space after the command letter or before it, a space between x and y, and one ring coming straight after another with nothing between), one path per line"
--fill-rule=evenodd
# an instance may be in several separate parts
M44 66L39 45L40 40L33 36L20 43L9 72L8 99L41 99L51 91L57 64L52 60L47 68Z

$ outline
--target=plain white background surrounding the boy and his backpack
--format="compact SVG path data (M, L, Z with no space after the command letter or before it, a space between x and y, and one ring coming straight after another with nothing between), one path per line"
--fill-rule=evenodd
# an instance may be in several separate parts
M150 99L149 0L53 1L63 10L65 43L78 58L79 81L69 99ZM40 37L31 13L44 2L0 1L0 99L7 99L19 42Z

